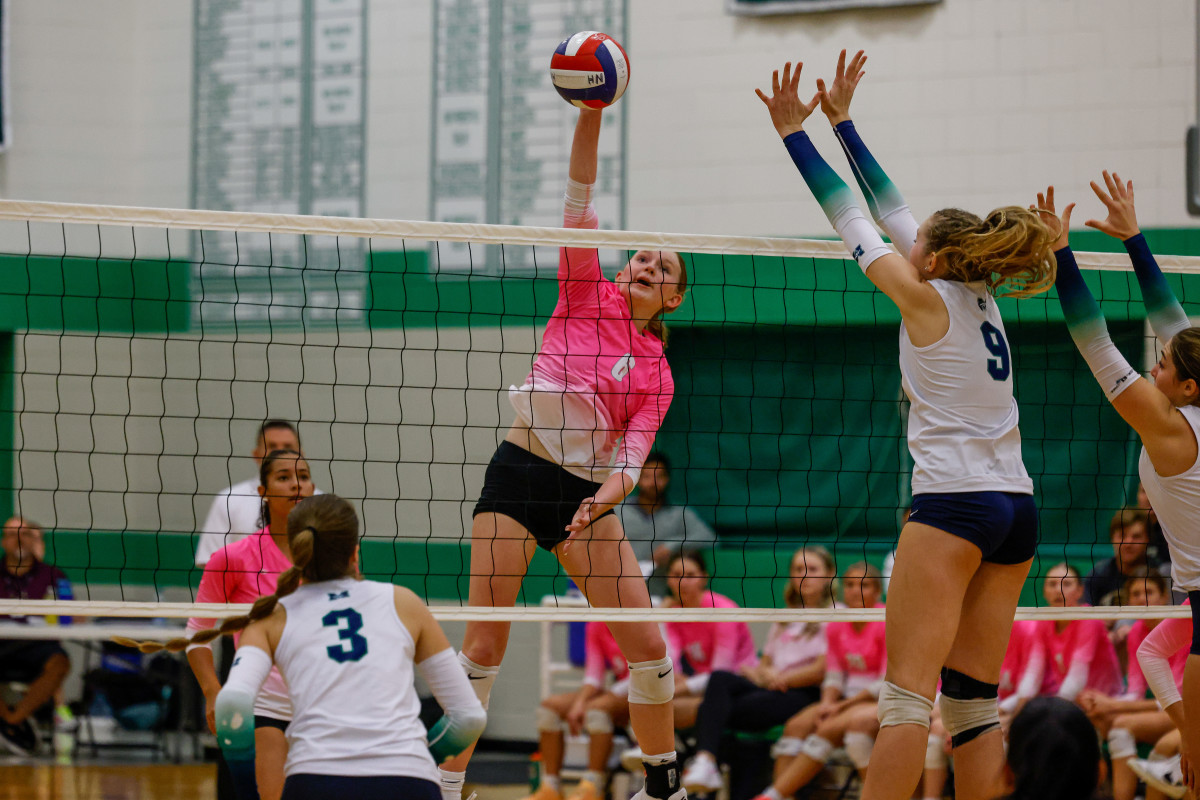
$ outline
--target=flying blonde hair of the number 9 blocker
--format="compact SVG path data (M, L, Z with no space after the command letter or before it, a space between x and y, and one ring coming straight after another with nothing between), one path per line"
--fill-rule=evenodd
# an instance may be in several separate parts
M1028 297L1054 285L1058 231L1030 209L1007 205L980 219L961 209L929 218L929 253L946 265L948 281L983 281L1002 297Z

